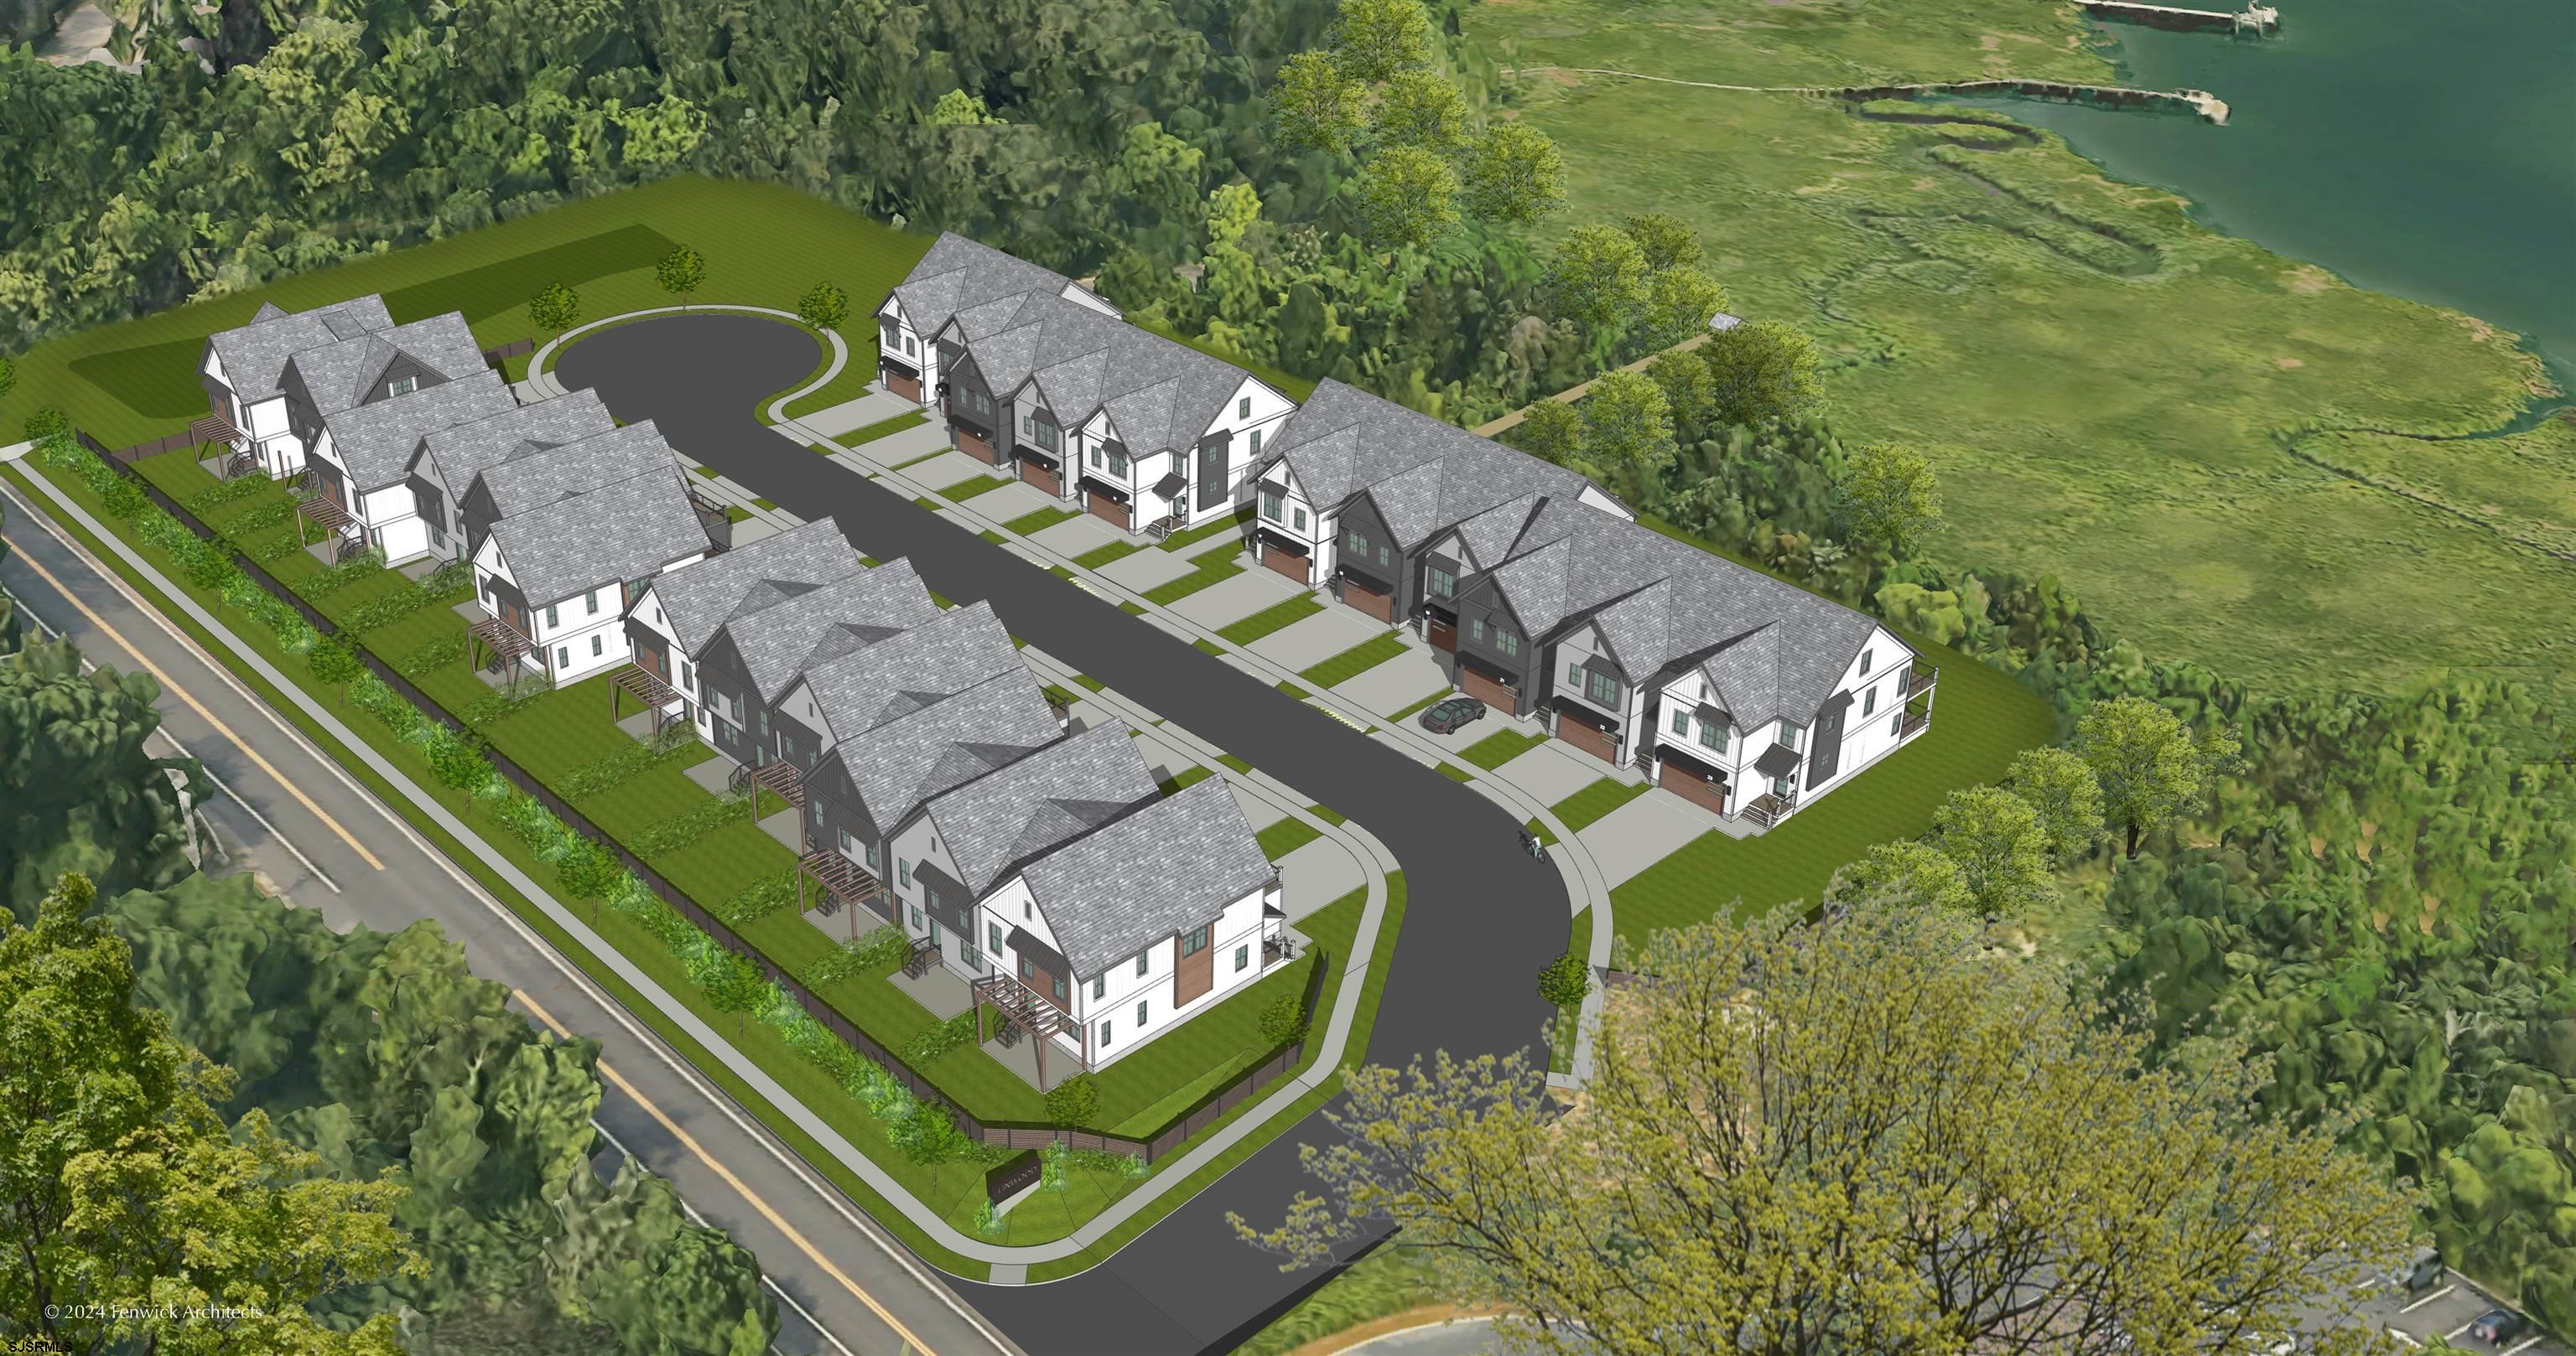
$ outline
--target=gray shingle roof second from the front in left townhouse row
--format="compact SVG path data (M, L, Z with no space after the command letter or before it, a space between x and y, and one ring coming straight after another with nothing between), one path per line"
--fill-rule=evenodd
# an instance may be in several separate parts
M958 883L981 898L1012 867L1159 795L1136 738L1110 720L940 793L925 808Z

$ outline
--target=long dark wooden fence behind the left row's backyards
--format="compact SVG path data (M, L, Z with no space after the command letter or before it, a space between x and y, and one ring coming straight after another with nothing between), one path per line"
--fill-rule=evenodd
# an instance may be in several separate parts
M98 450L98 443L88 432L80 432L80 443L85 448L90 448L93 453ZM126 479L131 479L134 484L139 484L142 491L144 491L144 497L149 497L155 504L160 504L170 517L180 520L180 525L185 525L198 538L204 538L204 540L222 540L222 533L216 533L214 527L209 527L206 522L201 522L185 504L180 504L178 499L173 499L170 494L165 494L157 484L152 484L149 479L144 479L131 466L126 466L121 461L113 461L113 458L108 461L108 466L113 466ZM229 543L224 543L224 545L229 548ZM340 630L340 625L332 623L330 618L325 618L319 607L314 607L301 594L296 594L294 589L289 589L278 576L268 574L268 569L263 569L250 556L245 556L240 551L232 551L232 561L240 563L242 571L260 589L265 589L270 597L276 597L276 600L286 602L289 607L294 607L296 615L301 615L314 630L319 630L325 636L335 636ZM425 713L428 718L438 720L440 726L448 726L451 731L459 731L459 733L466 731L464 720L459 720L446 708L440 708L435 700L430 700L428 692L422 692L420 687L415 687L412 679L407 679L399 672L394 672L392 664L386 664L384 659L379 659L366 646L355 646L355 651L366 661L368 672L374 672L379 679L384 679L384 684L392 687L397 695L402 695L402 700L412 702L420 713ZM835 1037L840 1037L842 1042L848 1042L850 1050L858 1050L863 1058L873 1060L896 1083L902 1083L904 1088L909 1088L912 1096L922 1099L930 1106L945 1109L958 1122L958 1130L963 1130L971 1140L981 1140L987 1145L1002 1145L1002 1148L1038 1148L1038 1145L1061 1140L1069 1148L1092 1148L1092 1150L1110 1150L1110 1153L1136 1153L1136 1155L1144 1155L1146 1163L1151 1163L1151 1160L1162 1158L1164 1153L1172 1153L1172 1148L1177 1148L1182 1140L1188 1140L1198 1130L1206 1130L1211 1122L1216 1122L1216 1117L1221 1117L1229 1109L1239 1106L1242 1101L1257 1096L1265 1083L1270 1083L1270 1081L1280 1078L1283 1073L1288 1073L1291 1068L1296 1068L1298 1058L1306 1050L1303 1040L1288 1045L1285 1050L1280 1050L1278 1055L1273 1055L1260 1068L1255 1068L1255 1070L1244 1073L1242 1078L1236 1078L1234 1083L1226 1083L1224 1088L1208 1094L1198 1106L1190 1109L1190 1114L1185 1114L1180 1122L1175 1122L1172 1127L1167 1127L1162 1135L1154 1135L1151 1140L1131 1140L1131 1137L1123 1137L1123 1135L1100 1135L1100 1132L1090 1132L1090 1130L1056 1130L1056 1127L1041 1127L1041 1124L1028 1124L1028 1122L984 1122L984 1119L976 1119L963 1106L958 1106L945 1094L940 1094L938 1086L933 1086L927 1078L922 1078L894 1050L886 1050L868 1032L860 1032L855 1022L850 1022L848 1016L842 1016L840 1009L835 1009L832 1003L824 1003L819 996L814 996L804 983L796 980L796 975L788 975L786 970L781 970L778 965L773 965L770 957L762 955L760 947L744 942L732 929L732 924L726 924L724 919L719 919L719 916L708 913L703 906L698 906L696 898L685 895L677 885L672 885L670 880L665 880L662 872L652 870L641 857L636 857L623 844L618 844L616 839L611 839L608 834L603 834L600 826L590 821L590 816L585 816L582 811L574 811L564 798L559 798L544 782L538 782L536 777L531 777L523 767L518 767L515 762L510 762L510 756L505 756L502 751L489 749L489 746L484 746L484 756L492 762L495 772L500 772L502 777L507 777L510 785L515 785L518 790L528 793L538 805L544 805L554 818L559 818L564 823L564 829L572 829L574 834L582 834L585 839L592 839L592 841L603 844L608 852L613 852L616 859L626 870L631 870L636 875L636 880L644 883L647 890L652 890L662 903L667 903L675 913L680 913L683 919L688 919L690 924L696 924L701 931L706 931L708 937L714 937L719 947L724 947L724 949L729 949L729 952L734 952L739 957L747 957L752 965L760 965L762 975L768 975L770 980L775 980L778 988L788 998L796 1001L796 1006L801 1006L827 1032L832 1032ZM1314 1003L1316 1003L1316 996L1321 991L1324 965L1332 962L1332 955L1324 947L1311 947L1311 952L1314 952L1314 967L1306 973L1306 996L1303 996L1306 1022L1314 1022ZM1046 1037L1038 1037L1038 1040L1046 1040Z

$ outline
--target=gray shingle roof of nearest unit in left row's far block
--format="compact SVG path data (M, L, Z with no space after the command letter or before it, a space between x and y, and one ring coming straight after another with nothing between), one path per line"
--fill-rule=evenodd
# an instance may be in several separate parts
M492 525L492 540L533 607L644 579L708 548L677 468L505 517Z

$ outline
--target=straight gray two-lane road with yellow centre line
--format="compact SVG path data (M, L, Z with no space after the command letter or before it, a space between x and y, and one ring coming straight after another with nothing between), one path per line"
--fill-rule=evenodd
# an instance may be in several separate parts
M672 1181L703 1220L760 1258L788 1356L997 1356L1012 1351L848 1199L778 1148L659 1037L592 988L505 906L286 726L160 612L57 538L8 494L0 587L49 630L124 672L157 669L162 736L204 762L224 793L206 805L229 862L252 870L335 929L438 921L477 975L507 983L556 1029L600 1042L600 1130ZM131 648L126 648L131 646ZM155 754L165 754L155 738ZM598 1158L616 1171L616 1148ZM917 1346L907 1346L917 1343Z

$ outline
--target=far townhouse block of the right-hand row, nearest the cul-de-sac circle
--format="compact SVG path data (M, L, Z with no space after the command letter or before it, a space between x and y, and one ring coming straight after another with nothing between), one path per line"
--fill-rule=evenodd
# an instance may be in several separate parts
M1123 530L1234 515L1296 409L1260 378L1126 324L1077 283L940 237L878 306L886 347L927 345L951 443Z

